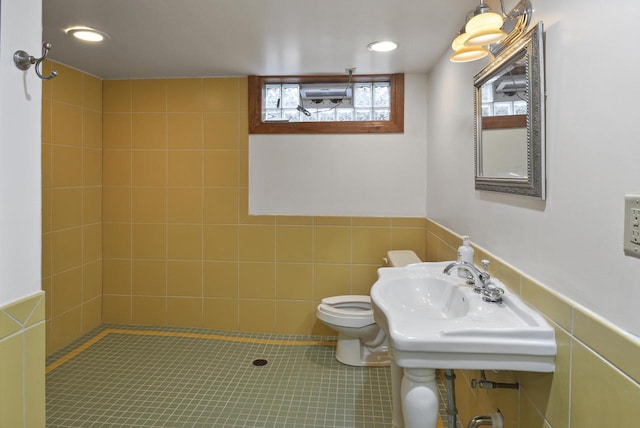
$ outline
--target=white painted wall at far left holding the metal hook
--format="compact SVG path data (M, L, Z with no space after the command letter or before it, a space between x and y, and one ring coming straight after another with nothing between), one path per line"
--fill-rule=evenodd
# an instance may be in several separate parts
M0 307L40 285L42 84L13 53L40 56L41 0L0 0Z

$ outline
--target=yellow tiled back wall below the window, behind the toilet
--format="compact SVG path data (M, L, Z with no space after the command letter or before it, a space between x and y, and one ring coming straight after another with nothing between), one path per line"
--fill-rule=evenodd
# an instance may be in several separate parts
M103 82L103 321L335 334L424 219L248 215L247 79Z

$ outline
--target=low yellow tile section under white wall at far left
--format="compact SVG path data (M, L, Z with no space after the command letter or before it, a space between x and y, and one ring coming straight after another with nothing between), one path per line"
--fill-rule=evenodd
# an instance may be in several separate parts
M45 296L0 307L0 427L45 426Z

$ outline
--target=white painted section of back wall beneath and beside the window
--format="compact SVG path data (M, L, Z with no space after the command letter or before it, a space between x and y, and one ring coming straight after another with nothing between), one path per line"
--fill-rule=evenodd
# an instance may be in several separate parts
M405 76L405 132L251 135L251 214L424 217L426 76Z

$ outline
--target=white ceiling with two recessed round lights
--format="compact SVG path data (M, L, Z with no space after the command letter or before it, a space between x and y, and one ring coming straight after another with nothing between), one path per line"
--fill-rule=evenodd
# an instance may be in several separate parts
M104 79L424 73L476 0L43 0L50 58ZM89 44L64 33L110 35ZM399 48L373 53L391 39Z

